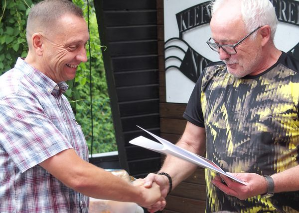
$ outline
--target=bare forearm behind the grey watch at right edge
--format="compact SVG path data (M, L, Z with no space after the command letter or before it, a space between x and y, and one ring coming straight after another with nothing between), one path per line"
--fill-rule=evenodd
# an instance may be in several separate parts
M299 191L299 165L283 172L271 175L274 180L274 192Z

